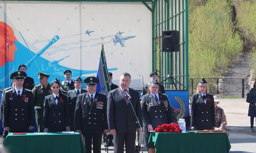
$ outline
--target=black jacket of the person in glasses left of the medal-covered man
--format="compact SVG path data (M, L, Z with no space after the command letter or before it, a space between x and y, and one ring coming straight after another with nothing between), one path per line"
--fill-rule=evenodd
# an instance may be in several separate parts
M86 90L81 89L81 93L86 93ZM75 109L76 109L76 100L78 95L76 94L76 90L71 90L68 92L68 101L69 101L69 111L70 111L70 130L75 130L74 127L74 118L75 118Z

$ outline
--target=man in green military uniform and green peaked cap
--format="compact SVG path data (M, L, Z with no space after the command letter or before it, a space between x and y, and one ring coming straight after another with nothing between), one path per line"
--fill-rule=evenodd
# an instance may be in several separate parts
M39 85L36 85L32 92L34 95L34 105L36 109L36 122L38 132L44 132L43 129L43 116L44 116L44 101L45 96L51 95L51 85L48 83L50 75L45 73L38 73Z

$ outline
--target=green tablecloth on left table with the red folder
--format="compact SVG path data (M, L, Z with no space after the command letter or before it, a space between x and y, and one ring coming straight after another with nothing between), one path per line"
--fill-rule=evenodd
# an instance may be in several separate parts
M13 135L9 133L3 141L8 153L85 153L85 147L79 133L48 134L27 133Z

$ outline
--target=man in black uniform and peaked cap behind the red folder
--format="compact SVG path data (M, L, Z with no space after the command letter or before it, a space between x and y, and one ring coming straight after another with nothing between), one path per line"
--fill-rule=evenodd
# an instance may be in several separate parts
M23 88L26 73L11 74L15 87L5 92L3 128L9 132L28 132L34 128L34 99L31 90Z

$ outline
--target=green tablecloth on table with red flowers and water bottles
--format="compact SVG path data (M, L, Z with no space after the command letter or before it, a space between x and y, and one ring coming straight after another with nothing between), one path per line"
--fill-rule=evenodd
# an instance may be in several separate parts
M151 133L156 153L228 153L226 133Z

